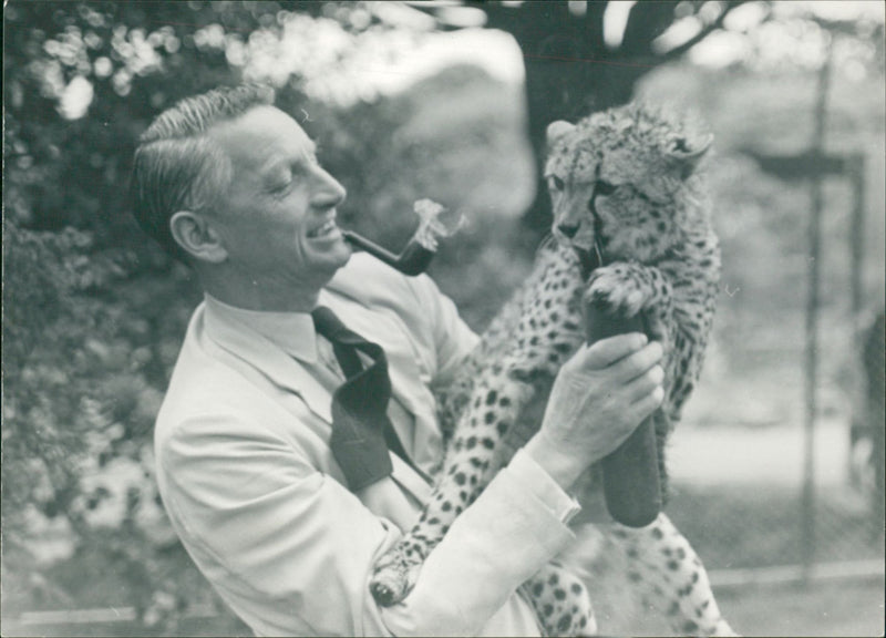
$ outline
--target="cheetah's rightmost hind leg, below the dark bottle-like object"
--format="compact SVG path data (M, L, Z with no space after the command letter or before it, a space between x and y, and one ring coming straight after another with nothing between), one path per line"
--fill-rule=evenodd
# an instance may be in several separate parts
M666 613L678 635L738 636L720 614L701 559L663 513L638 529L614 525L611 537L643 603Z

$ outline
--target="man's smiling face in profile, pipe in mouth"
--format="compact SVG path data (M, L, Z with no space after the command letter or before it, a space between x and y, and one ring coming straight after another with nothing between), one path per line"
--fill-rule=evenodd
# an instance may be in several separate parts
M336 225L344 188L282 111L258 106L209 133L234 176L213 215L231 266L262 285L319 289L351 255Z

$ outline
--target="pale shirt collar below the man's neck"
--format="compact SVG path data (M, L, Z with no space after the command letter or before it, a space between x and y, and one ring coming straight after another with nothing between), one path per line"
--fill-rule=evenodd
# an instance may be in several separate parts
M213 312L227 315L249 326L287 354L306 363L318 361L317 332L310 313L246 310L219 301L208 292L204 297Z

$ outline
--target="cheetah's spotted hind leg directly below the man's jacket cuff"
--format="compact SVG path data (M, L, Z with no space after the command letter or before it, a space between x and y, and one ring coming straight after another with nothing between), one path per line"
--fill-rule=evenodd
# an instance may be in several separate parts
M523 587L545 636L597 635L597 619L588 590L570 570L548 563Z

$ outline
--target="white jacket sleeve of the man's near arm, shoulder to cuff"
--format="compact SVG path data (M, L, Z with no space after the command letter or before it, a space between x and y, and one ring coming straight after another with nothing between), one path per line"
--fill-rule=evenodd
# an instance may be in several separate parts
M460 516L404 603L380 609L369 577L400 529L289 441L219 412L182 423L158 447L162 493L195 562L257 634L537 631L514 593L573 535L527 457Z

